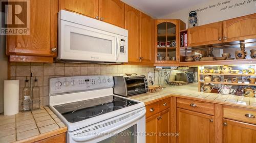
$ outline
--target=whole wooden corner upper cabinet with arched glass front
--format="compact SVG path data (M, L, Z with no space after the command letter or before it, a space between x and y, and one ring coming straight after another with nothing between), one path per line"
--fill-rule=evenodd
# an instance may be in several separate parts
M180 20L155 20L155 63L179 63ZM182 22L183 25L184 22Z

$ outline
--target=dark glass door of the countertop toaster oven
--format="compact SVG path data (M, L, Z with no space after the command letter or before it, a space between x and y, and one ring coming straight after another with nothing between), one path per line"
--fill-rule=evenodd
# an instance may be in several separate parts
M146 92L145 76L124 77L127 96Z

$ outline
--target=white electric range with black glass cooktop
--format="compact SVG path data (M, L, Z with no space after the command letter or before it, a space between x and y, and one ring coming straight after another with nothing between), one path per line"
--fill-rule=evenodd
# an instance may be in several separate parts
M113 94L112 76L49 80L49 106L67 125L67 142L145 142L143 102Z

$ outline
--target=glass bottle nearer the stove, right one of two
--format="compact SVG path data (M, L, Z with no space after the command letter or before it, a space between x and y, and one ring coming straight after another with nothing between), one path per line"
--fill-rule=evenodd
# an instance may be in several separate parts
M32 110L40 108L40 88L38 87L37 81L35 77L34 87L32 89Z

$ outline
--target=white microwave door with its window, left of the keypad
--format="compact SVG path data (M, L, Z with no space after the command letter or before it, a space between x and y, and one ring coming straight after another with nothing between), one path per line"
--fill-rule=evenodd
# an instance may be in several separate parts
M121 36L65 20L60 20L59 28L60 48L57 59L118 61Z

